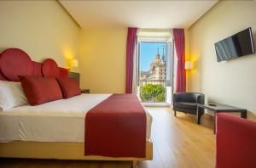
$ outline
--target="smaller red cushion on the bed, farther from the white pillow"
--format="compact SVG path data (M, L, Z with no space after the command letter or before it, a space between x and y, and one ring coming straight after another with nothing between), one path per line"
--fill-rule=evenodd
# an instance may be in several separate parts
M81 94L79 82L74 78L56 78L64 98L71 98Z

